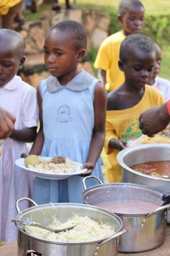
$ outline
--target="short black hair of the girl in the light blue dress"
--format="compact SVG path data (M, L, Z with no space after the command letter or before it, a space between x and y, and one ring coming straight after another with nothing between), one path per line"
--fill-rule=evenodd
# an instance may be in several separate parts
M58 24L53 26L51 30L60 30L63 33L68 33L71 35L76 49L86 49L86 29L81 23L74 20L64 20L62 22L58 22Z

